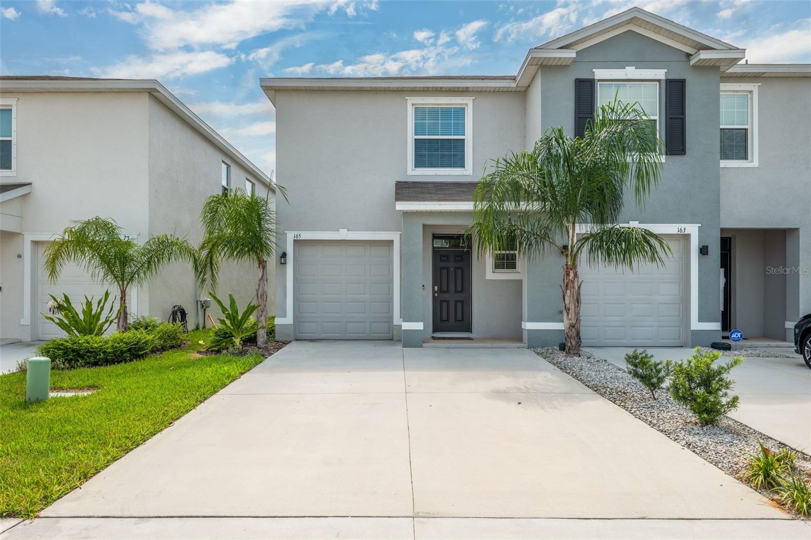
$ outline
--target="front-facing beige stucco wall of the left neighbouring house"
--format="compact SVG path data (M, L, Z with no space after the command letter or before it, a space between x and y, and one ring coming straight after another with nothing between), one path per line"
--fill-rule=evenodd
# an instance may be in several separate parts
M143 92L2 92L17 99L17 169L2 182L32 182L31 193L6 201L22 212L22 232L48 238L73 220L112 217L131 234L148 230L148 96ZM13 205L10 203L14 203ZM29 339L24 303L24 240L0 237L2 336ZM36 247L36 246L34 246ZM36 249L31 249L32 297ZM144 295L139 295L139 301Z

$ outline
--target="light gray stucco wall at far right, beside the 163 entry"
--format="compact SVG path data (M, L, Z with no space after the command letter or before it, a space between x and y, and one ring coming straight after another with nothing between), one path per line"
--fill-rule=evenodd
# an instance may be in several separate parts
M760 84L758 166L721 169L721 226L787 231L786 319L811 313L811 79L721 79ZM792 243L793 242L793 243ZM787 330L792 337L792 331Z

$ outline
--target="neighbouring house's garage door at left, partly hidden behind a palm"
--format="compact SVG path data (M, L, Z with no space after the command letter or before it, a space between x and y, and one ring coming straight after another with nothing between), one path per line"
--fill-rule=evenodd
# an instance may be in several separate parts
M94 297L93 301L104 296L105 290L109 289L111 298L118 298L118 292L114 287L105 286L93 281L88 272L75 264L66 264L59 274L59 279L55 283L48 281L48 274L42 268L42 261L45 260L45 247L49 242L36 242L36 260L39 264L39 272L36 279L36 312L32 313L32 319L36 320L36 339L49 340L52 337L62 337L65 332L48 320L45 320L42 313L48 313L49 294L56 298L62 298L66 294L71 298L73 306L80 310L79 302L84 302L84 295L88 298ZM109 305L109 304L108 304ZM118 306L118 300L115 305ZM109 309L109 307L108 307ZM106 313L106 311L105 311ZM110 326L115 330L115 323Z

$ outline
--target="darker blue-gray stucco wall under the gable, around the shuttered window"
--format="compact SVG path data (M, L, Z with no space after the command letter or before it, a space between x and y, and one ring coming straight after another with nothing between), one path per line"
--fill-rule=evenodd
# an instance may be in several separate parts
M620 222L639 221L642 224L697 224L698 244L710 246L710 255L698 256L698 320L719 323L719 71L717 67L694 67L684 51L673 49L637 32L623 32L597 45L577 51L571 66L543 66L540 118L543 131L550 126L564 126L573 135L574 79L594 78L594 69L665 69L666 77L687 81L687 154L667 156L659 186L646 199L644 208L637 208L633 195L626 196ZM664 84L660 84L659 114L664 116ZM527 111L528 115L537 114ZM547 289L554 289L560 280L560 264L549 264ZM552 276L554 281L551 281ZM538 276L543 280L543 276ZM555 287L556 288L556 287ZM547 298L548 297L548 298ZM551 302L551 294L537 298ZM556 294L556 309L551 305L535 316L540 321L562 321L560 294ZM549 317L556 315L555 319ZM550 332L553 333L553 332ZM719 339L720 332L693 330L693 345L707 345ZM545 339L553 342L554 336Z

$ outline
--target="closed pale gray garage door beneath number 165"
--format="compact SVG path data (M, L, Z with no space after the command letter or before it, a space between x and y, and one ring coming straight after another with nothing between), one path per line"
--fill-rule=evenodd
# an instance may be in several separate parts
M298 240L296 338L392 339L392 250L393 242Z

